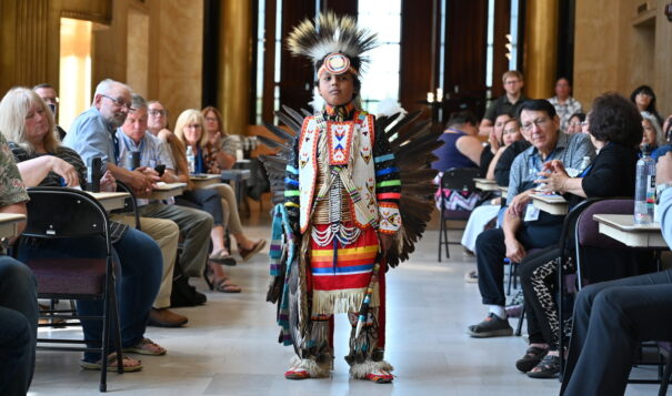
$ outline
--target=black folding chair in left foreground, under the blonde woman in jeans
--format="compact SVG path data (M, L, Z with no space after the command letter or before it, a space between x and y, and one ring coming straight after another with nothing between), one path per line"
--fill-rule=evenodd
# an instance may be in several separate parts
M102 316L80 316L69 311L43 313L41 316L63 319L102 321L102 342L99 347L47 346L39 349L99 352L102 369L100 392L107 390L107 356L110 341L114 341L118 373L123 373L119 309L114 293L114 268L108 214L89 194L66 187L33 187L28 190L28 224L23 236L34 238L71 238L100 235L106 240L106 256L101 258L36 258L28 265L38 282L38 297L51 299L90 299L103 302ZM114 332L114 336L111 336ZM38 338L47 344L86 344L83 339Z

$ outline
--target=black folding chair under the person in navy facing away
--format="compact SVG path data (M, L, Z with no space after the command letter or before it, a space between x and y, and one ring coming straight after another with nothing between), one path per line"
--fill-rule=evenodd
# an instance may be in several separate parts
M452 167L448 171L443 172L441 176L440 189L442 190L453 190L462 192L463 194L473 193L477 191L474 177L480 177L481 171L475 167ZM441 217L440 230L439 230L439 262L441 262L441 248L445 248L445 257L450 258L450 245L459 245L458 241L450 241L448 237L449 230L463 230L449 227L449 221L463 221L467 222L469 220L469 215L471 215L471 210L448 210L445 207L445 196L441 193L441 197L439 199L439 203L441 205Z

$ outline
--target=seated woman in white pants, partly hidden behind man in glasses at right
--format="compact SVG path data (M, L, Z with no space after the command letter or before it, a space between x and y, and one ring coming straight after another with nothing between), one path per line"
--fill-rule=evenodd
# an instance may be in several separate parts
M497 122L494 129L497 129ZM520 124L516 119L506 120L504 122L504 125L502 126L502 130L503 145L499 148L497 154L490 163L490 166L488 167L488 174L485 175L485 179L489 180L494 180L494 169L504 151L511 145L511 143L522 139L522 134L520 132ZM509 164L509 166L511 166L511 164ZM497 217L497 214L500 211L501 199L495 197L489 203L490 204L481 205L474 209L473 212L471 212L471 215L469 216L467 226L464 227L464 233L462 234L461 243L462 246L464 246L470 252L473 252L475 250L477 237L479 236L479 234L483 232L485 226Z

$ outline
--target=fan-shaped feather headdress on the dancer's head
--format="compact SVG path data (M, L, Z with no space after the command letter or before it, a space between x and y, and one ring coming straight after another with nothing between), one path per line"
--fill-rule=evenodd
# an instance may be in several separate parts
M345 68L342 72L351 71L359 75L362 64L368 61L362 53L378 47L375 38L377 34L369 29L360 29L354 18L338 17L330 11L321 13L314 22L305 19L299 23L288 38L288 47L292 54L310 58L315 72L328 55L345 55L353 70ZM342 59L334 61L337 68L342 65Z

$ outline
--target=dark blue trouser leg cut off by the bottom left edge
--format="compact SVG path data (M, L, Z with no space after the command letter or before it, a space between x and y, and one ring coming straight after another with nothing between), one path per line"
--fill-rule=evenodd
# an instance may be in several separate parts
M0 395L26 395L36 362L36 281L22 263L0 256Z

